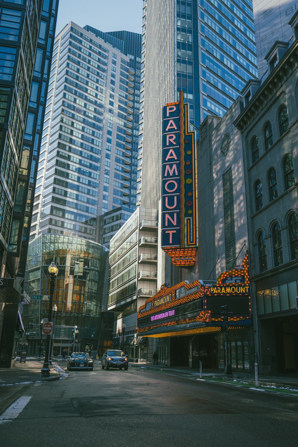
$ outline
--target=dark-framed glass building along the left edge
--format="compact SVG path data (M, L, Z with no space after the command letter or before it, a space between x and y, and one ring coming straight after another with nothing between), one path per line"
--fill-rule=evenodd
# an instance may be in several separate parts
M15 356L58 0L0 1L0 364ZM4 303L5 307L4 307Z

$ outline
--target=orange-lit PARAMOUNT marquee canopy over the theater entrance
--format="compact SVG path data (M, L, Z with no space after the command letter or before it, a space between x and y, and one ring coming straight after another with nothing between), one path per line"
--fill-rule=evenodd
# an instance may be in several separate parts
M233 328L252 324L248 255L242 266L223 272L214 284L197 280L162 286L139 308L138 334L169 337L220 331L223 305L228 306Z

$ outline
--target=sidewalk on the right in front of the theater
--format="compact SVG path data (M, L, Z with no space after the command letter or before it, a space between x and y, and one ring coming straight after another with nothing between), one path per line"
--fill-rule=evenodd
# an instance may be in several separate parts
M169 372L172 374L182 374L194 379L200 378L200 371L197 369L190 369L188 367L168 367L165 365L158 365L153 367L152 363L130 363L130 367L154 371ZM256 386L255 375L249 372L233 372L232 376L224 375L223 371L217 370L202 370L202 379L213 380L224 383L239 383ZM298 390L298 374L293 375L259 375L259 387L275 387Z

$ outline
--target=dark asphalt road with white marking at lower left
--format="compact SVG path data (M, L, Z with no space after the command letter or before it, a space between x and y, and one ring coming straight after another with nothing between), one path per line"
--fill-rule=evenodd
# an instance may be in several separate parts
M289 447L298 439L297 397L134 368L97 365L27 385L8 410L5 447Z

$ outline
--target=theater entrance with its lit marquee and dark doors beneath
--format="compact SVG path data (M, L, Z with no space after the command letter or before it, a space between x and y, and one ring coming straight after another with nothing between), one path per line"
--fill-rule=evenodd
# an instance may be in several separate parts
M253 371L252 307L248 254L217 281L162 285L138 313L138 336L154 338L159 364L224 370L222 306L227 306L228 349L234 371Z

